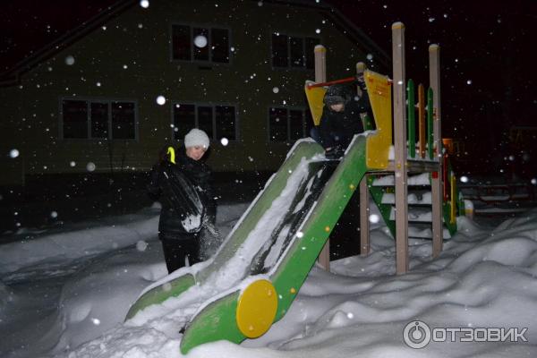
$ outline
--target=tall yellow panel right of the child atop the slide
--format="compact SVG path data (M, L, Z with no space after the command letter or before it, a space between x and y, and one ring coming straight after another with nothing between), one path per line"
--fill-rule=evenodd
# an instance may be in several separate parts
M377 132L367 138L366 163L370 169L385 169L392 143L391 82L377 72L366 70L363 75L377 125Z

